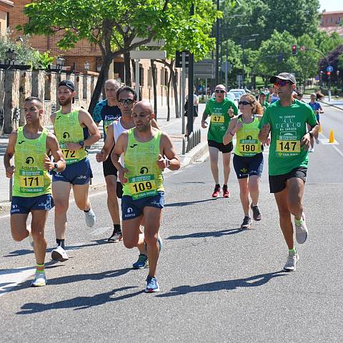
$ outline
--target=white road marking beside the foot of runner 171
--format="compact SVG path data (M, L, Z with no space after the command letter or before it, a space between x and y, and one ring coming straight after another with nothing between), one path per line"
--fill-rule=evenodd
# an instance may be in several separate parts
M25 282L29 277L33 277L36 268L21 267L0 271L0 297L9 292L13 287Z

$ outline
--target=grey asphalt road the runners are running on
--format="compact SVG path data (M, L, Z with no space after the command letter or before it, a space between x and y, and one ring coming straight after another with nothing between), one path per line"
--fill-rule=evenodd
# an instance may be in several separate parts
M324 109L322 143L332 127L337 145L319 144L310 155L309 239L297 246L297 272L282 272L287 246L267 161L262 222L242 230L233 169L231 197L212 199L207 160L166 176L158 294L142 292L147 270L131 269L136 250L104 243L111 223L103 191L91 194L92 229L71 203L70 259L52 263L49 248L49 284L39 289L29 287L34 255L28 242L13 242L9 217L0 217L1 342L342 342L343 111ZM50 247L53 231L51 212Z

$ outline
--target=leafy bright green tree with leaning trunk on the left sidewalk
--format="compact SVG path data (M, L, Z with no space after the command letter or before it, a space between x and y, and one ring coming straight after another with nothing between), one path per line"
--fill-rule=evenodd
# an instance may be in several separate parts
M61 34L61 49L70 49L81 39L99 46L102 67L89 105L92 111L114 57L124 54L129 70L129 51L153 38L179 36L184 29L177 25L179 16L188 13L191 3L192 0L39 0L25 6L29 22L19 29L30 34ZM207 4L213 6L210 0ZM192 29L192 22L187 25ZM142 40L135 43L135 37Z

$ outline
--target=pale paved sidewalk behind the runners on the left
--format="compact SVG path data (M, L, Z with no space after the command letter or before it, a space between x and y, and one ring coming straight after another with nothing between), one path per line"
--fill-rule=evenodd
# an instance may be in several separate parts
M199 115L204 111L204 104L199 104ZM182 118L175 118L175 109L171 108L171 118L166 121L167 109L166 107L160 108L158 111L157 122L162 131L166 131L171 137L177 154L179 154L182 166L191 164L193 161L200 159L202 155L206 154L207 149L207 130L202 129L202 142L198 146L194 147L187 154L182 154ZM187 119L186 119L187 122ZM99 126L100 132L102 134L102 125ZM194 130L201 129L201 119L198 117L194 123ZM9 179L6 178L4 169L4 152L6 151L6 146L8 144L8 136L0 136L0 212L8 211L10 208L9 202ZM93 172L93 179L91 182L91 189L96 189L99 187L104 187L104 174L102 171L102 163L97 163L95 159L96 152L100 151L101 147L104 145L104 140L96 142L91 149L89 149L89 160L91 161L91 169Z

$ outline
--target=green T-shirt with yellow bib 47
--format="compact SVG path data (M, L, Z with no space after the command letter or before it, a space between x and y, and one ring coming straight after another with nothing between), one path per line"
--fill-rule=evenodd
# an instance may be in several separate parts
M205 108L205 114L211 116L209 123L209 131L207 132L207 140L217 141L217 143L223 142L223 137L231 118L227 111L232 107L234 114L238 114L238 109L234 102L225 98L222 102L217 102L215 99L210 99Z

